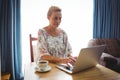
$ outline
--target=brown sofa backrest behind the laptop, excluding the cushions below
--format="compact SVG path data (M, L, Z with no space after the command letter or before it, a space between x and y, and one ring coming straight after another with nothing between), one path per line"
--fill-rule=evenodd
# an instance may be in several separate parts
M91 39L88 46L106 44L105 53L109 53L114 57L120 57L120 39Z

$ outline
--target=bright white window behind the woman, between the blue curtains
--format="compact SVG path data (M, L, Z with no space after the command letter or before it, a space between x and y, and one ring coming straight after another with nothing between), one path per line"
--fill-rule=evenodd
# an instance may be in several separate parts
M67 32L74 55L92 38L93 0L21 0L23 64L30 62L29 34L37 36L38 29L48 25L47 11L51 5L62 9L59 27Z

